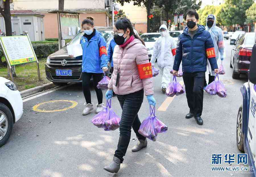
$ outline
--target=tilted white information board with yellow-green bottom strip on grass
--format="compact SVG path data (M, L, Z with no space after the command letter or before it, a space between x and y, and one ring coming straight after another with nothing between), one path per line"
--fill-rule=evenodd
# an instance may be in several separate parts
M11 66L36 62L36 56L27 35L4 36L0 39Z

